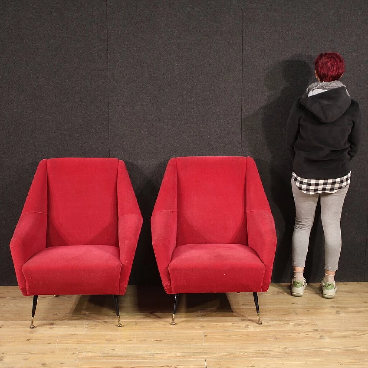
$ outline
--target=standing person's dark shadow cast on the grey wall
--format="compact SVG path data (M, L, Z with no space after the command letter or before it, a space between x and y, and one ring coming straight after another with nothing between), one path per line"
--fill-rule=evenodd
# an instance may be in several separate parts
M314 57L309 55L274 64L265 75L265 105L243 119L242 155L255 159L275 217L277 248L272 282L276 283L290 282L292 275L295 208L290 186L292 160L285 145L287 118L294 100L314 81L313 65Z

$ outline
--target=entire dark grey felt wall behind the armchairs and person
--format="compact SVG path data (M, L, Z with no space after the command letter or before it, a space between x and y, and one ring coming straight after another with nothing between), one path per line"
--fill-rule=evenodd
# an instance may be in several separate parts
M167 161L188 155L255 158L279 238L273 282L289 282L286 119L313 81L315 56L336 50L365 124L367 11L359 0L2 0L0 284L15 284L8 244L36 166L57 156L125 160L144 215L131 283L159 284L149 218ZM368 281L365 146L366 136L342 214L338 280ZM306 272L315 282L319 216L316 225Z

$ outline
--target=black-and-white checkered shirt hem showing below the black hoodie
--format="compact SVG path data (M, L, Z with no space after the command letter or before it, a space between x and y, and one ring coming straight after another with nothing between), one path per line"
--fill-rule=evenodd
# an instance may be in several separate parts
M336 193L350 184L351 171L337 179L304 179L293 171L293 180L297 187L306 194Z

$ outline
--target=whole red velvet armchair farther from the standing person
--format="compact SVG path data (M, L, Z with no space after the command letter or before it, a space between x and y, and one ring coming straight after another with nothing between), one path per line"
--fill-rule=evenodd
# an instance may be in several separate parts
M42 160L10 242L21 292L112 294L127 288L142 216L123 161Z

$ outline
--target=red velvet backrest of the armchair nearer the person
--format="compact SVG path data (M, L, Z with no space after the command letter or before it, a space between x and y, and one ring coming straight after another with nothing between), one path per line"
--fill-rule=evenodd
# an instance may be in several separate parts
M179 157L176 245L247 245L245 157Z

